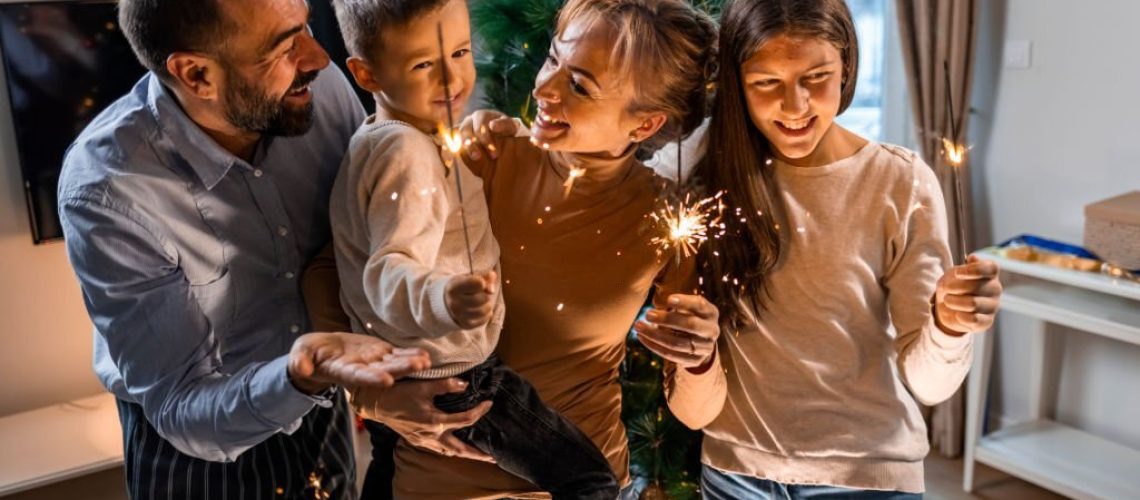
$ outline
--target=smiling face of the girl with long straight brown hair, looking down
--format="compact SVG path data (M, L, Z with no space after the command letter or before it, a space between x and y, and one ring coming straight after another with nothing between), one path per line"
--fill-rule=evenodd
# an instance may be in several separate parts
M839 113L842 68L836 46L793 34L774 36L741 64L748 113L781 159L801 164L821 153Z

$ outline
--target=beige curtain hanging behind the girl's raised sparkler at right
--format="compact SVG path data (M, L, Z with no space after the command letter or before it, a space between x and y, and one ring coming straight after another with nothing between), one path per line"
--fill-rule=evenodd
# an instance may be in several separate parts
M919 153L942 180L950 227L954 228L958 214L963 214L966 248L972 248L969 241L969 155L960 167L963 197L960 212L954 202L951 166L943 157L942 139L966 141L970 82L974 80L977 7L977 0L896 0L899 40L906 66L911 110L918 131ZM947 92L952 98L950 101L953 103L953 113L950 112ZM952 130L951 115L958 122L959 130ZM961 259L958 255L958 235L953 229L950 231L950 247L955 261ZM930 412L931 445L944 456L956 457L962 452L963 416L961 390Z

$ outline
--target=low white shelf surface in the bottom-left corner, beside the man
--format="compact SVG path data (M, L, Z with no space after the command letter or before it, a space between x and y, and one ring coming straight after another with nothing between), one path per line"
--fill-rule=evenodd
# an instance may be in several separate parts
M0 417L0 497L123 462L111 394Z

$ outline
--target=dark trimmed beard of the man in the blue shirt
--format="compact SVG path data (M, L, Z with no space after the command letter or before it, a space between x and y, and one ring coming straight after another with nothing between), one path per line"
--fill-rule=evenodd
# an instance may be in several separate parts
M285 97L275 98L254 82L243 79L236 69L227 68L228 85L223 91L226 120L238 129L266 136L301 136L312 126L312 100L295 107ZM312 83L319 71L298 73L287 92Z

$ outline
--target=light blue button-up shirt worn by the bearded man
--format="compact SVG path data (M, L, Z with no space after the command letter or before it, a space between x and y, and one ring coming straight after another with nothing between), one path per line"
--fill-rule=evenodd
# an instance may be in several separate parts
M335 67L312 92L312 129L263 139L250 164L148 74L64 161L95 371L189 456L230 461L327 404L293 387L286 360L309 328L301 271L329 240L329 189L364 110Z

